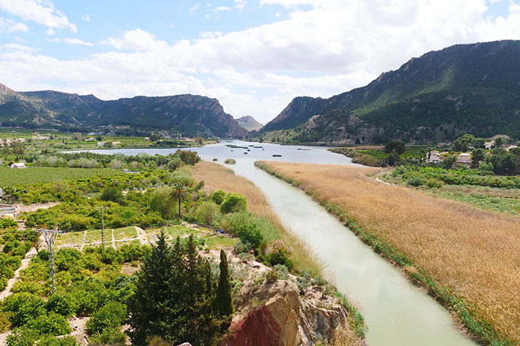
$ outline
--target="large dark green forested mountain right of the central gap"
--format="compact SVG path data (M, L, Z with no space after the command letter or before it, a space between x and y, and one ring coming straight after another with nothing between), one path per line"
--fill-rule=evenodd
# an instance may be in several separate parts
M520 137L520 41L460 44L412 58L362 88L297 97L260 133L288 141L451 141L463 133Z

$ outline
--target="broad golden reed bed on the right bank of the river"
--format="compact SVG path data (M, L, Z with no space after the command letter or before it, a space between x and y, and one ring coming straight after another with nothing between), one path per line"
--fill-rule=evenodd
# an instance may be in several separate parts
M501 338L520 342L520 220L377 183L366 175L378 168L265 164L454 289Z

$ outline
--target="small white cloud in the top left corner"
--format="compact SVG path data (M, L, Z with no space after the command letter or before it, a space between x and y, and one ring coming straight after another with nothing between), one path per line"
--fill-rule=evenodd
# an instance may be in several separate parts
M53 3L49 0L0 0L0 9L9 14L20 16L22 19L44 24L49 28L78 31L76 25L70 23L67 16L55 9Z

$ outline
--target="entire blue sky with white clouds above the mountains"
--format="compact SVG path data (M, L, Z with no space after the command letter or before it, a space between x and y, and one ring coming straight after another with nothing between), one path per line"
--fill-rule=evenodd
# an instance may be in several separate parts
M517 0L0 0L0 83L193 93L262 123L452 44L520 39Z

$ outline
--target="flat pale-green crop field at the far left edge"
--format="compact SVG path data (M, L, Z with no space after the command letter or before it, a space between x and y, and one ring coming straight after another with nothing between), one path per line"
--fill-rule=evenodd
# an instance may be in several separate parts
M0 186L5 188L14 185L51 183L58 179L76 180L93 176L120 174L122 174L121 171L111 168L29 167L25 169L11 169L9 167L0 167Z

